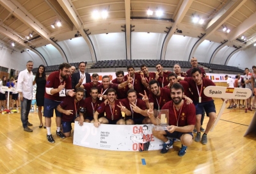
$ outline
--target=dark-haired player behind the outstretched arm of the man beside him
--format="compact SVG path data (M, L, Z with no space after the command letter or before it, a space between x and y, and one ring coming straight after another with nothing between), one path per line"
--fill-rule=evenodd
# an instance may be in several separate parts
M116 71L116 79L113 79L113 81L111 81L111 83L115 83L115 84L121 84L124 83L124 71L122 70L118 70ZM118 99L125 99L127 98L127 91L129 90L129 88L132 88L131 84L128 84L127 86L125 86L124 88L117 90L117 98Z

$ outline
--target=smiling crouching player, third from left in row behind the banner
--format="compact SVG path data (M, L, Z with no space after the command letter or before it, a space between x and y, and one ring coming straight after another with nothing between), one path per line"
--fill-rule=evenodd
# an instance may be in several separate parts
M118 107L118 104L120 104L120 100L116 100L116 90L110 88L107 92L108 97L108 104L100 104L97 111L95 111L93 118L94 118L94 126L99 127L100 124L116 124L116 125L125 125L125 120L122 117L121 108L122 106ZM126 111L122 110L127 114ZM100 113L106 113L106 117L103 116L99 118Z

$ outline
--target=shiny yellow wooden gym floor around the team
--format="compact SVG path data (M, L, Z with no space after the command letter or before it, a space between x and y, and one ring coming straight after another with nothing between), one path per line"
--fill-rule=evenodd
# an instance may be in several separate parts
M221 100L215 100L217 112ZM228 107L228 106L227 106ZM33 132L25 132L20 113L0 115L0 173L256 173L256 134L244 137L254 111L225 109L221 120L208 135L207 145L193 144L179 157L180 142L166 154L114 152L72 144L72 137L52 134L56 143L46 139L46 129L38 128L37 114L29 114ZM203 127L208 118L205 116ZM146 165L141 164L145 159Z

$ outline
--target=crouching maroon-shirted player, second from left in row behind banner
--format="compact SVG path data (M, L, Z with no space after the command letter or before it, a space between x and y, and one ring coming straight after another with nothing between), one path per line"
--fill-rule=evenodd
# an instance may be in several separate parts
M98 95L99 95L99 91L97 88L92 87L90 90L90 97L87 97L86 99L84 99L84 108L86 110L85 113L85 120L84 122L86 123L93 123L93 115L95 113L95 111L97 111L97 109L99 108L100 104L102 103L101 100L99 100ZM101 113L98 118L104 116L104 113Z

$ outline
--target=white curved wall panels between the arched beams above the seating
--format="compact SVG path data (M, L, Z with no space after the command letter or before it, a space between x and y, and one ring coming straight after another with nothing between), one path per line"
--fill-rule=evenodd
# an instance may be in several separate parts
M143 33L132 32L131 38L131 56L132 59L159 59L161 55L161 48L163 45L166 33ZM125 33L109 33L90 35L97 60L110 59L125 59ZM198 38L189 36L173 35L168 42L165 59L188 61L191 49ZM68 62L92 61L90 49L83 39L83 37L73 38L72 40L64 40L58 42L66 53ZM195 56L198 61L209 62L212 52L220 45L217 42L209 42L205 40L195 51ZM60 52L52 45L46 45L36 48L44 55L48 65L59 65L65 62ZM212 63L224 65L228 55L234 51L233 47L223 47L216 56L212 58ZM22 54L19 51L12 51L10 49L3 49L0 51L0 61L3 67L15 68L22 70L25 67L26 61L32 59L34 67L44 64L44 60L32 51L25 51ZM227 65L234 67L252 67L256 65L256 47L250 47L244 51L239 51L234 54ZM14 66L14 67L13 67Z

